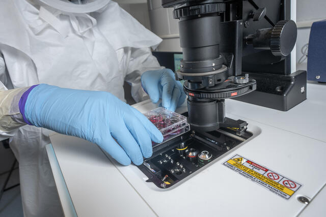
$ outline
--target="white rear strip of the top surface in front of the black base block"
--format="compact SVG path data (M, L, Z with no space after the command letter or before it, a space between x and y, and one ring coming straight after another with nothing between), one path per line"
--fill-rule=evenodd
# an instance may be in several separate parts
M300 90L298 90L300 91ZM226 100L226 111L284 131L326 142L326 85L307 84L307 100L289 111L279 111L236 100Z

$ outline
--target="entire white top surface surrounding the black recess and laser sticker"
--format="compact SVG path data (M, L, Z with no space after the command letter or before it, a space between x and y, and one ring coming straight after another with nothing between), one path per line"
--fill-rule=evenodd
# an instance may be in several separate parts
M46 146L66 216L326 216L326 85L307 85L307 100L287 112L235 100L226 115L255 135L203 171L161 190L134 165L121 166L85 140L55 134ZM186 105L186 104L184 104ZM135 104L141 112L155 108ZM181 113L186 106L178 111ZM302 187L286 200L222 165L239 154ZM308 205L297 200L305 196Z

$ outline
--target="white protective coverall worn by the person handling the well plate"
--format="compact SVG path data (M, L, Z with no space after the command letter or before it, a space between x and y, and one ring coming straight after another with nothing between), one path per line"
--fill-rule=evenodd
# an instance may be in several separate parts
M161 68L149 48L161 39L115 2L91 14L63 14L31 0L2 0L0 20L0 65L3 59L6 65L0 79L8 88L47 83L108 91L124 100L126 80L140 101L146 95L140 75ZM0 131L14 135L10 146L19 161L25 216L62 215L44 148L48 133L33 126Z

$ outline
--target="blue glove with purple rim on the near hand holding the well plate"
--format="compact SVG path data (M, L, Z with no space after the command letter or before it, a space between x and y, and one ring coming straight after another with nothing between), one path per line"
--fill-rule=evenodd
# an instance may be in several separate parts
M40 84L23 94L19 108L26 123L96 143L123 165L142 164L151 140L163 140L143 114L104 91Z

